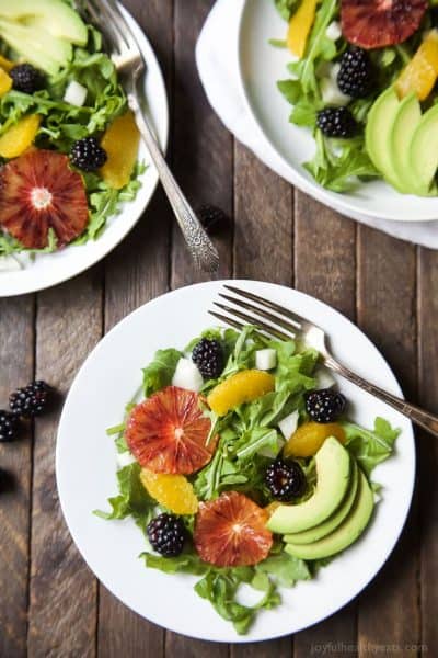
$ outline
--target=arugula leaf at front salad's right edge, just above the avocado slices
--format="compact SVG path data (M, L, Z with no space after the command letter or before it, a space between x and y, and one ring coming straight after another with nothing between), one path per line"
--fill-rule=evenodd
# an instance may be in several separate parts
M373 430L348 421L342 421L341 424L347 435L348 450L368 476L380 462L388 460L400 434L399 429L393 429L388 420L380 417L376 418Z

